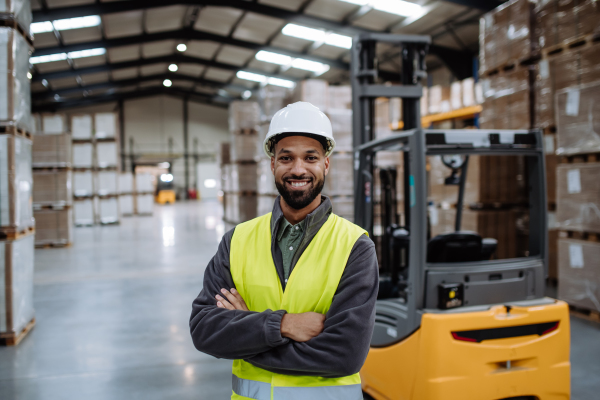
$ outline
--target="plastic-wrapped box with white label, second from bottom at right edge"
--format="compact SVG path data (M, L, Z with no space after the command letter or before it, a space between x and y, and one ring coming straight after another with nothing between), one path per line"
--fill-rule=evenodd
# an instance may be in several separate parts
M556 223L561 229L600 232L600 163L561 164L556 170Z

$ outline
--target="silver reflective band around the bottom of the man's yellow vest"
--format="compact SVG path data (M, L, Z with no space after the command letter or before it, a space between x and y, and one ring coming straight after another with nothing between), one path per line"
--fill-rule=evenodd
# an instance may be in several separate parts
M233 391L238 396L270 400L271 385L232 375ZM360 384L344 386L274 387L273 400L362 400Z

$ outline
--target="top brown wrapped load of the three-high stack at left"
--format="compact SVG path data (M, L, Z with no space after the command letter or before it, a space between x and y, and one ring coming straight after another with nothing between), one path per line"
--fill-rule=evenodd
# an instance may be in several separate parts
M71 135L68 133L35 135L31 151L34 168L70 167Z

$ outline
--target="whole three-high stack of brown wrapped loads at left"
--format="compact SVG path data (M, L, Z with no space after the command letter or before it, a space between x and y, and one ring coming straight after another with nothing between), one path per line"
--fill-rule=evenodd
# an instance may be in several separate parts
M71 135L39 132L34 136L33 208L36 246L67 246L72 234Z

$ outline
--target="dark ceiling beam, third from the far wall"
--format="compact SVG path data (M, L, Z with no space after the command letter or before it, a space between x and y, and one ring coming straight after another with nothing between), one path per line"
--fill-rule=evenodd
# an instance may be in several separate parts
M220 63L220 62L216 62L216 61L206 60L203 58L191 57L191 56L187 56L182 53L172 54L172 55L162 56L162 57L140 58L138 60L133 60L133 61L107 63L107 64L98 65L98 66L94 66L94 67L68 69L68 70L64 70L64 71L55 71L55 72L47 72L47 73L35 73L35 74L33 74L33 77L31 80L33 82L41 82L44 79L49 81L52 79L68 78L71 76L94 74L94 73L98 73L98 72L110 72L110 71L115 71L115 70L119 70L119 69L143 67L145 65L153 65L153 64L160 64L160 63L198 64L198 65L204 65L205 67L220 68L220 69L224 69L224 70L228 70L228 71L232 71L232 72L237 72L240 69L243 69L248 72L262 74L262 75L265 75L268 77L287 79L290 81L298 80L297 78L289 77L286 75L270 74L268 72L264 72L263 70L256 69L256 68L240 68L237 65L224 64L224 63ZM175 76L185 76L185 75L176 74Z

